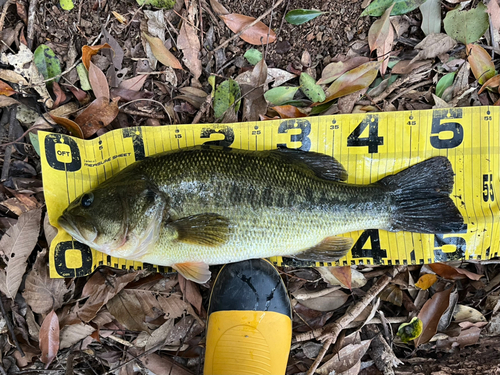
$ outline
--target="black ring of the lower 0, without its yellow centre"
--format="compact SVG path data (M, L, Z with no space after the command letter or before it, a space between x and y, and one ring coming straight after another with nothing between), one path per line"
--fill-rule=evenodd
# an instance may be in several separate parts
M81 266L69 268L66 264L66 251L77 251L81 255ZM77 241L59 242L54 250L54 266L62 277L80 277L92 272L92 250Z

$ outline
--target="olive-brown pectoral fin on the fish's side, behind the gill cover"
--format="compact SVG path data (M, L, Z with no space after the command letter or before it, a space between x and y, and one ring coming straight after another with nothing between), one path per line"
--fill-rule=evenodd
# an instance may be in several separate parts
M218 214L200 214L172 221L168 229L177 232L176 240L204 246L220 246L229 238L229 219Z

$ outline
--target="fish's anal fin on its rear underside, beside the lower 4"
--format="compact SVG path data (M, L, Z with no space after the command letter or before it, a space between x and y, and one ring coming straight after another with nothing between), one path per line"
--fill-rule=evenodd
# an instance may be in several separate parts
M352 247L354 240L350 237L327 237L316 246L299 254L296 259L312 260L317 262L331 262L344 257Z

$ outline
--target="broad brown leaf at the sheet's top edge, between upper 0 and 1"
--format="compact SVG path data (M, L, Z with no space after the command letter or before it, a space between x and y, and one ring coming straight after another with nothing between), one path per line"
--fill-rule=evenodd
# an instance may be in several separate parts
M82 129L84 138L94 135L116 118L119 112L118 100L119 98L113 98L110 102L108 98L101 96L76 117L75 122Z

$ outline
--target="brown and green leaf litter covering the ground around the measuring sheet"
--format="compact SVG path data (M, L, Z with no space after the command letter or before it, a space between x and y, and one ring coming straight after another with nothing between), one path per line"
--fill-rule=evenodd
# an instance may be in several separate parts
M154 121L285 119L500 100L498 54L492 54L499 50L496 2L487 8L464 3L459 10L431 0L374 0L363 12L361 2L339 8L311 0L290 2L286 13L279 1L252 7L248 1L187 0L172 2L173 9L163 3L113 10L82 4L81 13L54 8L47 10L47 20L34 19L19 2L7 9L4 42L10 49L1 54L0 110L10 116L21 112L14 105L22 102L36 116L16 133L31 129L21 138L28 153L0 148L3 157L10 147L14 161L31 171L20 185L12 164L0 158L6 373L42 367L133 373L126 361L137 357L134 363L154 373L195 374L203 363L210 286L107 267L85 278L49 278L47 249L54 229L41 223L37 129L95 139ZM77 17L87 33L83 44L46 26ZM36 38L16 29L17 20L38 23ZM3 143L13 136L8 128L0 124ZM287 269L282 277L294 311L287 374L310 371L326 345L318 338L335 327L342 333L319 359L317 373L396 366L411 372L415 363L430 370L419 358L436 352L453 358L458 349L481 353L487 335L500 333L500 298L495 286L489 288L498 276L494 262L467 261L397 269ZM377 289L381 281L383 290ZM405 331L410 322L421 324L421 335L402 340L390 333ZM443 368L436 363L432 370Z

